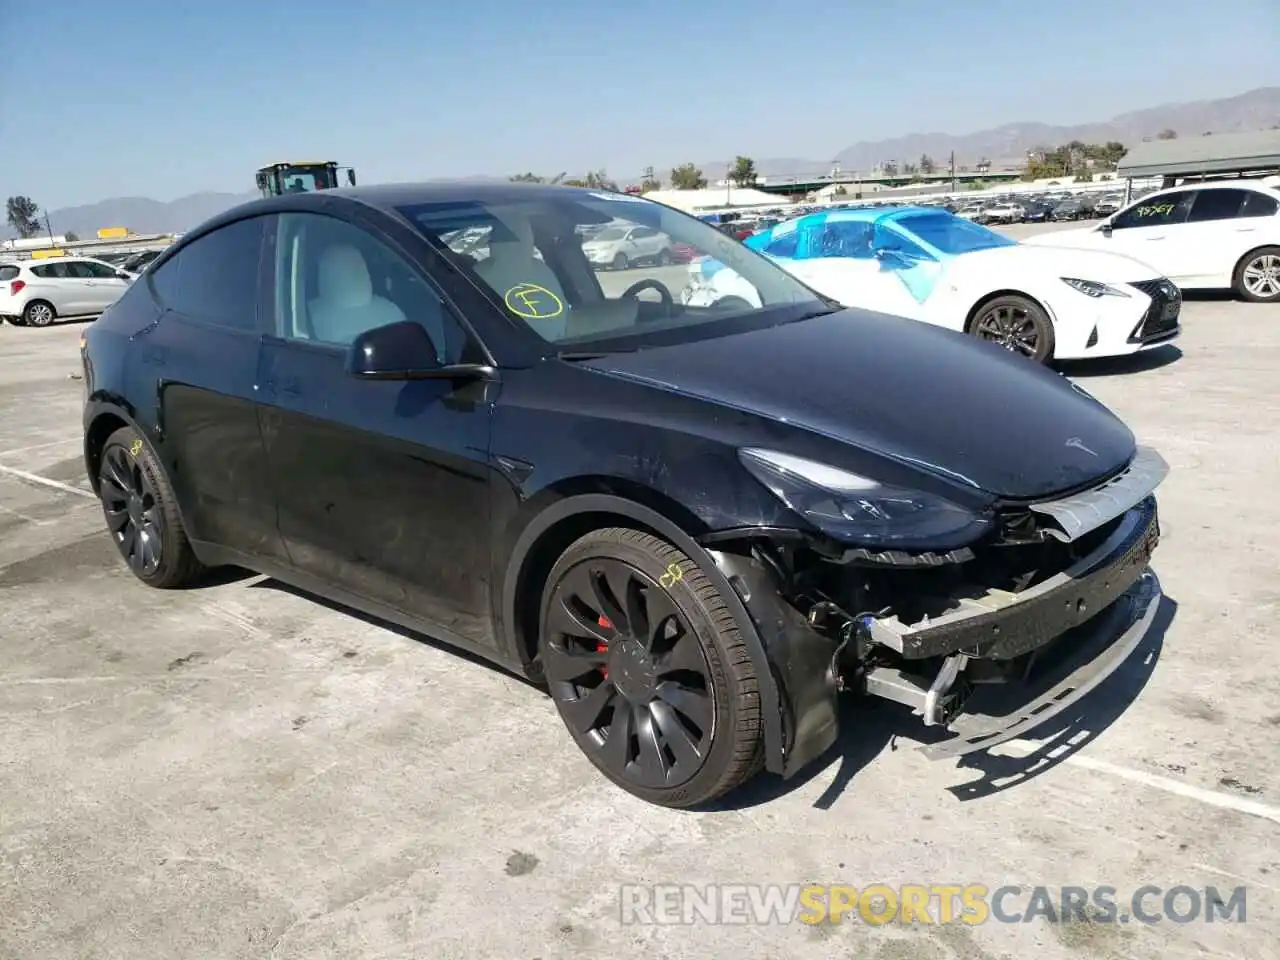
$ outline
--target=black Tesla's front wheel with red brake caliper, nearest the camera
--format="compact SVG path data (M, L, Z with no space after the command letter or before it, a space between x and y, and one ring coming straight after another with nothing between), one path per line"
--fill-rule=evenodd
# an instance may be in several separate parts
M663 806L695 806L763 765L759 682L733 614L685 553L595 530L543 591L539 658L570 735L596 769Z

